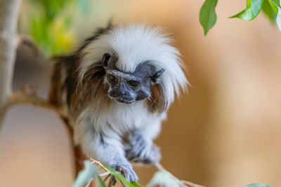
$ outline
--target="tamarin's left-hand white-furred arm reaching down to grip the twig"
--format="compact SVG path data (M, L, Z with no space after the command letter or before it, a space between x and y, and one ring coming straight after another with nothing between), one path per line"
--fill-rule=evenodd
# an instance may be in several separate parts
M126 160L124 148L120 138L113 131L107 129L95 130L93 126L83 127L79 124L74 129L74 139L81 145L86 155L124 174L127 181L138 181L133 167Z

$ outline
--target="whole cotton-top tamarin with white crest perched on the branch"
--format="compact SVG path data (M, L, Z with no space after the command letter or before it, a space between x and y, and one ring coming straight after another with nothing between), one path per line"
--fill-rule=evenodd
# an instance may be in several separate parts
M56 57L50 101L69 116L74 144L128 181L138 181L130 161L159 162L152 140L188 83L170 41L145 25L107 27Z

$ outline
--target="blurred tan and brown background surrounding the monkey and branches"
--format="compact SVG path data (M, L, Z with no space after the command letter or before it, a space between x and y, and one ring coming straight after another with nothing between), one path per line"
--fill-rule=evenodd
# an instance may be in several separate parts
M203 1L93 2L91 18L77 18L80 41L113 18L167 28L181 50L192 87L171 106L157 139L166 169L205 186L281 186L281 33L264 15L228 19L245 2L218 1L217 23L204 36ZM48 68L29 55L20 48L14 87L29 83L46 97ZM143 184L155 172L136 170ZM73 180L70 142L58 116L13 106L0 135L0 186L61 187Z

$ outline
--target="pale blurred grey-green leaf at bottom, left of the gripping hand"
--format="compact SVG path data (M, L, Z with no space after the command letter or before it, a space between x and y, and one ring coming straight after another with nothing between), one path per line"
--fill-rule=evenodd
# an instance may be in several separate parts
M89 160L84 161L85 169L79 172L77 179L72 187L84 187L98 176L98 168Z

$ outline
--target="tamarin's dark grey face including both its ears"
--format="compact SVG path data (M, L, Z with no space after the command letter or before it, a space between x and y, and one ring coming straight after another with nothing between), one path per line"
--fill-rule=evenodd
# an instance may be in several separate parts
M106 67L108 96L124 104L132 104L150 97L150 86L156 83L157 78L164 72L156 71L152 64L143 63L138 65L133 73L126 73L115 67L117 57L110 57L107 53L102 61Z

